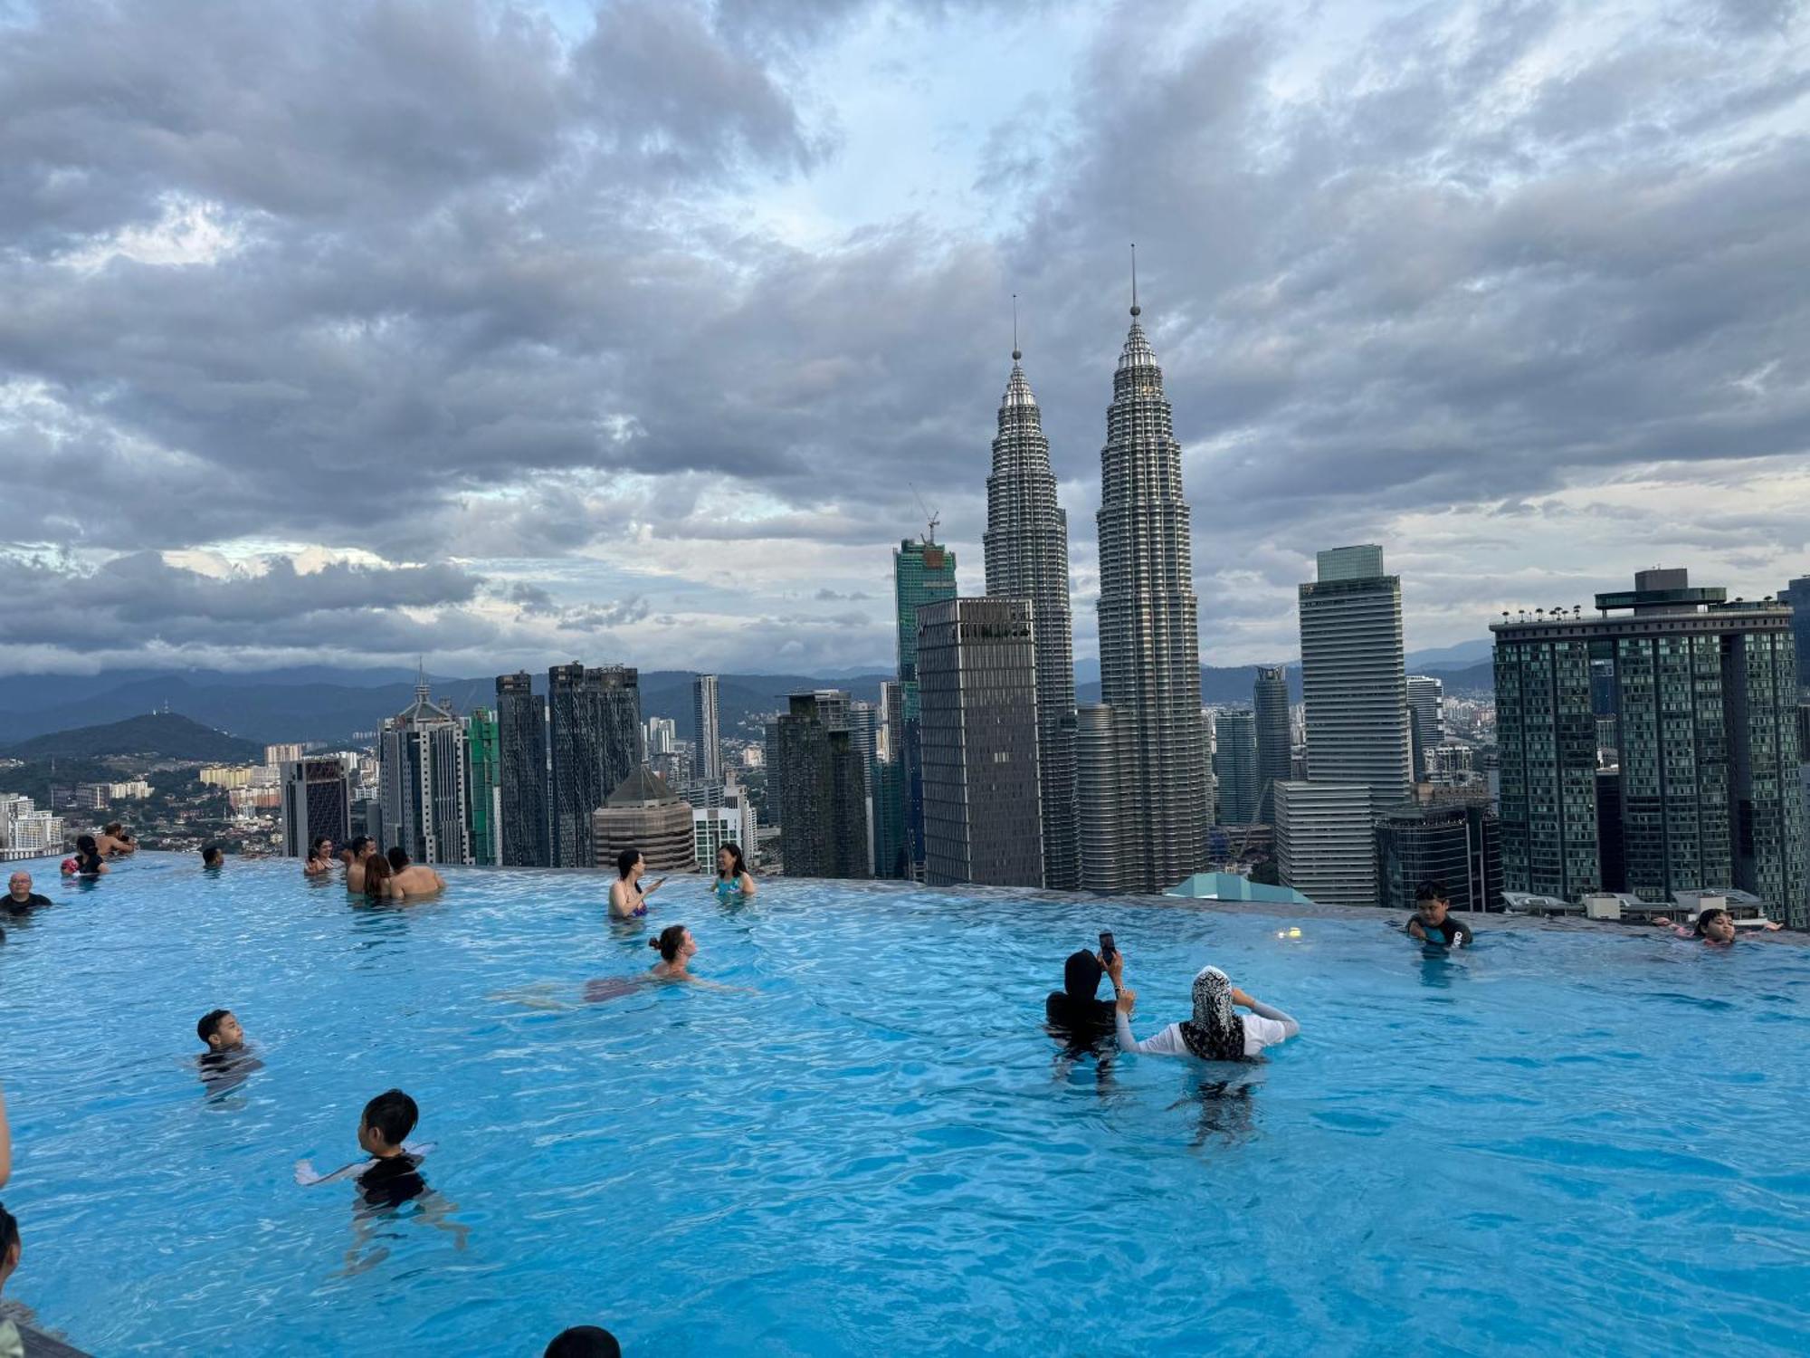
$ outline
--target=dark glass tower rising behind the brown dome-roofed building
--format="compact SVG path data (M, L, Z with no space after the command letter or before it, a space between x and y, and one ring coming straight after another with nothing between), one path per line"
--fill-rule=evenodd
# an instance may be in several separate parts
M547 695L554 867L590 867L592 811L644 759L639 674L624 665L556 665L547 672Z

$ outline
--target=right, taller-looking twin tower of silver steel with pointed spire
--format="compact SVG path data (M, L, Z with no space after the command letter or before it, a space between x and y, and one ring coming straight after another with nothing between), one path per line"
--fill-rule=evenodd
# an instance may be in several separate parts
M1100 699L1113 710L1108 728L1120 742L1122 838L1117 865L1082 862L1082 884L1115 878L1129 891L1166 891L1205 858L1205 742L1200 728L1200 636L1196 623L1189 511L1182 498L1182 445L1175 442L1162 369L1138 322L1113 373L1100 449ZM1077 753L1079 760L1079 753ZM1099 759L1088 760L1095 773ZM1099 824L1106 795L1082 820ZM1090 849L1091 851L1091 846ZM1091 871L1091 880L1090 880Z

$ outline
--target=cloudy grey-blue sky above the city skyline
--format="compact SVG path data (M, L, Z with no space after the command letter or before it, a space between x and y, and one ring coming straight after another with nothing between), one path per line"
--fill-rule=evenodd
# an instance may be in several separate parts
M1792 0L0 0L0 668L883 665L1012 293L1090 655L1129 241L1207 663L1810 572Z

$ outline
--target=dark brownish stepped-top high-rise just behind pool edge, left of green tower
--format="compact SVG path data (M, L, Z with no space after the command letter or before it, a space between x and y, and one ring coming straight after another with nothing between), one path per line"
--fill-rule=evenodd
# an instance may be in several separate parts
M867 779L847 726L847 695L793 693L776 726L786 875L867 876Z

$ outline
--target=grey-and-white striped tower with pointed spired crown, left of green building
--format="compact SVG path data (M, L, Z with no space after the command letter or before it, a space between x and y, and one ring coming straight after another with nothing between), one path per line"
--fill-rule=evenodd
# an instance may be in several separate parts
M429 697L425 677L414 686L414 701L384 719L376 759L384 847L400 847L418 864L469 864L465 728Z

